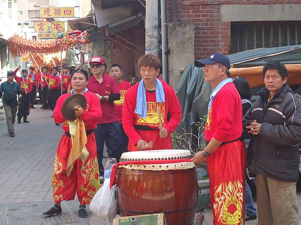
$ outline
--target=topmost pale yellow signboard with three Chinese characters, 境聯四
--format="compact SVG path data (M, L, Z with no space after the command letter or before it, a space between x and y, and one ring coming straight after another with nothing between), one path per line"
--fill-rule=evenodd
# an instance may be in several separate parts
M74 7L40 7L41 17L74 17Z

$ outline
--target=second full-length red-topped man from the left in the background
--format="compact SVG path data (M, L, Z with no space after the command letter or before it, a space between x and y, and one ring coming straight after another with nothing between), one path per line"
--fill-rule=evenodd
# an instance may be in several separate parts
M39 83L39 95L40 99L42 99L43 110L50 109L50 105L48 104L47 101L47 94L48 94L48 87L49 87L49 76L50 74L48 73L48 67L44 66L43 67L43 75L40 73L37 75L37 81Z

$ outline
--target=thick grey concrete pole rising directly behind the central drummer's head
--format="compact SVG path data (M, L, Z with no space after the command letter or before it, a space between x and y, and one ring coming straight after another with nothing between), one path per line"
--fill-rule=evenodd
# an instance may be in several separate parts
M158 55L158 0L146 0L145 54Z

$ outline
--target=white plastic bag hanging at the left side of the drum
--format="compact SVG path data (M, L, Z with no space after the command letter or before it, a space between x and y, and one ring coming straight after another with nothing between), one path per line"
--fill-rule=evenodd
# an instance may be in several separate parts
M118 210L115 189L116 185L110 189L109 178L104 179L103 186L96 192L90 203L90 210L108 223L112 223Z

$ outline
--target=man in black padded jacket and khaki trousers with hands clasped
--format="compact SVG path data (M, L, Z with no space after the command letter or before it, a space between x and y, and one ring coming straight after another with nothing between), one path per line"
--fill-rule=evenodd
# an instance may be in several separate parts
M248 168L256 174L258 224L299 224L301 102L286 84L282 63L267 62L262 75L265 88L243 118L245 131L251 134Z

